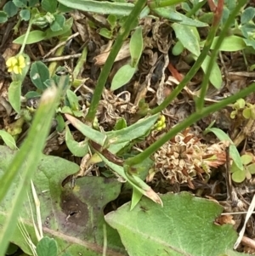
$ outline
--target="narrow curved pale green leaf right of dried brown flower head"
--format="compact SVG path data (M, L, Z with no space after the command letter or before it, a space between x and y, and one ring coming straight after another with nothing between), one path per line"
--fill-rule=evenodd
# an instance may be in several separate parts
M234 145L234 142L232 141L232 139L229 138L229 135L225 134L224 131L219 128L207 128L206 130L215 134L219 140L222 140L222 141L226 140L231 143L231 145L229 145L229 155L235 162L236 167L240 168L241 171L243 171L244 168L243 168L243 165L241 162L241 156L240 156L239 152L237 151L237 148Z

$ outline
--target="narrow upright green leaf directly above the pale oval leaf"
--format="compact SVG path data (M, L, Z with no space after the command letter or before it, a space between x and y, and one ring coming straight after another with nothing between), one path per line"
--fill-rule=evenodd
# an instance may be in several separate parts
M131 36L130 43L129 43L129 50L132 59L132 66L135 67L139 63L139 59L143 52L144 42L143 42L143 32L142 27L139 26Z

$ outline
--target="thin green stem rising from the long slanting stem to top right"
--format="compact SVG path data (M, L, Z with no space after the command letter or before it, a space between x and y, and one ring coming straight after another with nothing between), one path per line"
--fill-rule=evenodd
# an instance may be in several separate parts
M200 94L199 99L197 99L197 102L196 102L196 111L201 111L201 109L204 106L204 101L205 101L205 97L206 97L206 94L207 94L207 86L208 86L209 78L210 78L210 75L211 75L210 71L212 71L214 62L215 62L215 60L218 56L218 48L220 47L220 44L224 41L224 37L226 36L226 33L229 29L229 26L231 25L233 20L235 20L235 16L240 12L242 6L245 5L245 4L246 4L246 0L241 0L241 1L238 2L235 9L229 15L228 20L226 20L226 23L224 24L223 30L219 34L217 43L215 44L215 47L212 50L211 58L210 58L210 61L208 63L208 66L207 66L207 71L206 71L206 73L203 77L202 83L201 83L201 94ZM218 19L218 22L219 21L220 20ZM215 22L214 22L214 24L215 24Z

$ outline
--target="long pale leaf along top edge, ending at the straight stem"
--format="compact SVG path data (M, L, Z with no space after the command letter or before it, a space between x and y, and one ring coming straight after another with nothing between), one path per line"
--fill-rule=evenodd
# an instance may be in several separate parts
M71 8L96 14L113 14L117 16L127 16L133 9L133 3L117 3L93 0L58 0L59 3Z

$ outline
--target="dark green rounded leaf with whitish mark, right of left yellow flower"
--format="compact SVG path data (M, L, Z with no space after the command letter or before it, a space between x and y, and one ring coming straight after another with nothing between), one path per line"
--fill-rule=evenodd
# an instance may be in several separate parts
M30 71L31 82L41 91L45 90L47 86L44 82L49 78L49 71L47 65L42 61L36 61L31 65Z

